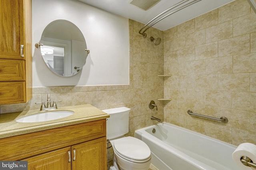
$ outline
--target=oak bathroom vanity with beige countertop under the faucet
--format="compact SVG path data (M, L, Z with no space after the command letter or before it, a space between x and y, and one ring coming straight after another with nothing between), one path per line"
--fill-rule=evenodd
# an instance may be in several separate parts
M82 106L86 106L85 109ZM74 107L78 108L68 107L75 112L74 116L62 118L63 121L60 119L47 121L46 127L43 122L38 122L38 125L33 123L33 128L24 125L30 123L13 121L14 124L23 124L23 127L17 130L20 135L12 136L6 131L2 132L10 137L0 139L0 160L26 160L28 170L106 170L106 118L109 115L91 105ZM86 110L93 110L95 114L82 113L87 112ZM67 125L67 122L71 125ZM54 127L56 125L59 127ZM50 126L50 129L29 133L38 126L42 129ZM9 131L12 132L10 129Z

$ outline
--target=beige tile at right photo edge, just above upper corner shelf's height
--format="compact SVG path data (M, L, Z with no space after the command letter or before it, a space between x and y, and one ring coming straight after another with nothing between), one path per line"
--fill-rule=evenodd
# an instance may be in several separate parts
M256 72L256 53L234 55L234 72Z

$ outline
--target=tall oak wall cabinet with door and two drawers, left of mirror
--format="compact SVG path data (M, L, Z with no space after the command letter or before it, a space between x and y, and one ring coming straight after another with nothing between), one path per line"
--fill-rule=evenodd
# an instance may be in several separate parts
M31 1L0 2L0 105L32 98Z

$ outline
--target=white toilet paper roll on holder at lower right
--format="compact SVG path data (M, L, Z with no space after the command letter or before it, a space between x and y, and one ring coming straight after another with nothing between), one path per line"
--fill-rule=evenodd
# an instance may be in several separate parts
M245 166L241 162L241 157L247 156L249 157L254 164L256 163L256 145L252 143L242 143L240 144L236 150L232 154L233 160L236 162L236 164L242 169L242 170L255 170L255 168L252 168L250 166Z

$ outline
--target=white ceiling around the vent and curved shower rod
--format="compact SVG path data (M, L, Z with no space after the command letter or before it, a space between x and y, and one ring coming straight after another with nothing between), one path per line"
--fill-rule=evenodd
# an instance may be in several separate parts
M144 11L134 5L128 3L128 0L79 0L88 5L100 8L102 10L129 18L141 23L147 23L152 18L163 12L164 10L170 8L174 4L180 2L181 0L161 0L155 6ZM185 21L192 18L205 14L211 10L214 10L220 6L228 4L234 0L201 0L196 4L188 6L162 21L156 23L153 27L165 31L171 27L179 25ZM192 2L189 0L188 2ZM186 2L186 3L188 3ZM184 5L184 4L183 4ZM176 9L176 8L175 8ZM168 13L166 13L168 14Z

